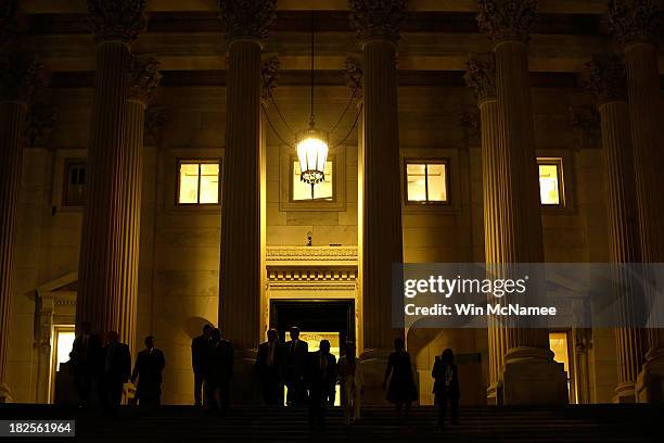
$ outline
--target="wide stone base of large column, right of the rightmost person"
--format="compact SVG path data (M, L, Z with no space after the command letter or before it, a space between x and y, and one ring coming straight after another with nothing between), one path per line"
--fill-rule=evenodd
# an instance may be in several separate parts
M505 363L503 401L506 405L567 404L564 365L553 362L549 350L510 350Z

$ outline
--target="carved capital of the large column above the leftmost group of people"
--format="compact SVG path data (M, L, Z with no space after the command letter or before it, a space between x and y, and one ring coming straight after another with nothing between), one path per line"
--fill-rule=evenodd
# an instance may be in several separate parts
M145 0L88 0L90 29L98 43L131 43L145 28Z

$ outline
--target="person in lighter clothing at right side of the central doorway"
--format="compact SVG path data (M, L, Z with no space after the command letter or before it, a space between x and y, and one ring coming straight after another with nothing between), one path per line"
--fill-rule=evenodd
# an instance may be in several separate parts
M361 400L365 393L365 380L357 364L355 343L347 342L345 354L339 359L336 371L342 391L342 406L346 425L359 420Z

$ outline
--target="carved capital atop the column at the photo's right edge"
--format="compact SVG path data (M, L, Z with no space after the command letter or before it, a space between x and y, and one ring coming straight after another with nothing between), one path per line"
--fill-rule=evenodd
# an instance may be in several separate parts
M621 45L654 41L662 26L662 10L653 0L609 0L609 28Z

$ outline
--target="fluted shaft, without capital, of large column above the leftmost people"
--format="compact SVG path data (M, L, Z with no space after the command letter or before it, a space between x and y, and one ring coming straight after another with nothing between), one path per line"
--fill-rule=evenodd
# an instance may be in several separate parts
M127 336L123 288L126 278L125 189L127 149L127 69L129 47L102 41L97 47L88 183L84 212L76 322L92 331Z

